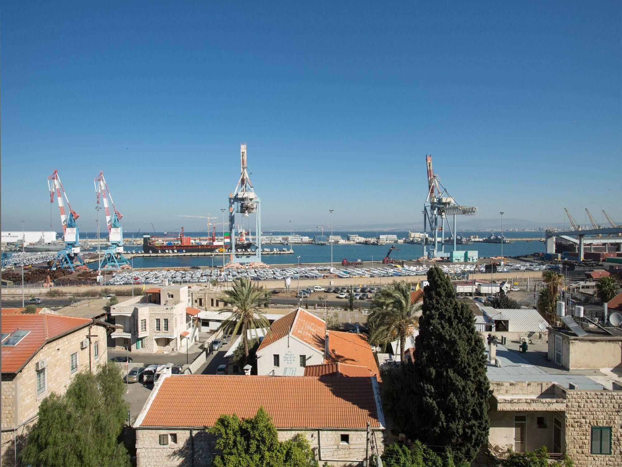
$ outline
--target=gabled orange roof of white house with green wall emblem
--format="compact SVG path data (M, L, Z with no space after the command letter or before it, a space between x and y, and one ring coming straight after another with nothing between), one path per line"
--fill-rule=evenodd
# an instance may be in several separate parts
M278 341L289 333L315 347L318 351L324 351L326 323L323 319L317 318L302 308L297 308L291 313L285 314L283 318L274 321L270 326L270 332L259 344L258 350L269 346L272 342Z

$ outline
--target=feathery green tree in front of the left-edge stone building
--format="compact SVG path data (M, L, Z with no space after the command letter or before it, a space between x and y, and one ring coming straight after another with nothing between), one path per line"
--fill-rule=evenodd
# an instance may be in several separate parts
M121 370L106 363L98 374L73 377L65 397L42 400L39 418L30 430L22 462L34 466L129 466L118 442L128 418Z

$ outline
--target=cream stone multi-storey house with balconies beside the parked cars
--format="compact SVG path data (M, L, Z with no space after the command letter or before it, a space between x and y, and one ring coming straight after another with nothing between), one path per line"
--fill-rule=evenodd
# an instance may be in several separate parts
M131 352L185 352L198 340L192 319L198 311L190 306L188 286L155 287L111 307L114 323L123 329L114 331L115 346Z

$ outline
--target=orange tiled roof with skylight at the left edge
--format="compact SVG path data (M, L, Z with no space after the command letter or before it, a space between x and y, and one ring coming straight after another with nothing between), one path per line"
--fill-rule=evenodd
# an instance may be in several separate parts
M2 373L16 373L47 341L92 323L91 319L53 314L4 314L2 333L30 331L16 346L2 346Z

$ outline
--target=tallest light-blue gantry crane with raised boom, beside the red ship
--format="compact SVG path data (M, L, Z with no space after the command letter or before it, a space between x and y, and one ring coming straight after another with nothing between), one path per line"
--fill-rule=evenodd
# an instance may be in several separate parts
M249 178L248 166L246 164L246 143L239 145L240 176L238 184L233 193L229 195L229 232L230 232L230 259L234 263L261 262L261 200L255 194L253 184ZM236 228L236 214L242 217L255 216L255 241L250 238L251 232L241 228L239 232ZM239 234L239 238L236 234ZM239 240L239 242L238 242ZM223 238L223 242L225 238ZM236 243L242 248L236 250ZM254 249L253 249L254 247ZM242 251L246 250L246 251Z

